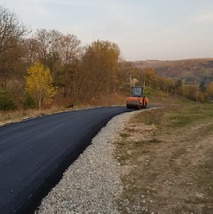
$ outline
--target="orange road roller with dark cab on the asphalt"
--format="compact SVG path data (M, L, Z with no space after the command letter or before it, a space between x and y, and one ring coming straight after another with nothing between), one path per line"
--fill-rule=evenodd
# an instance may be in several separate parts
M146 108L148 104L148 98L144 95L144 87L133 86L131 87L131 95L127 97L126 107L128 109L142 109Z

